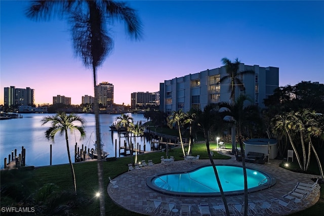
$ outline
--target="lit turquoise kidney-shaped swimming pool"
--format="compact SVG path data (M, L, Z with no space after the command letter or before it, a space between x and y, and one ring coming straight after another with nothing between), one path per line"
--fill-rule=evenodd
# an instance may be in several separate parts
M244 193L243 169L240 166L217 165L219 178L226 195ZM271 187L275 179L264 172L247 168L249 192ZM262 183L262 184L260 184ZM146 184L151 189L181 196L220 195L213 167L204 166L190 172L148 177Z

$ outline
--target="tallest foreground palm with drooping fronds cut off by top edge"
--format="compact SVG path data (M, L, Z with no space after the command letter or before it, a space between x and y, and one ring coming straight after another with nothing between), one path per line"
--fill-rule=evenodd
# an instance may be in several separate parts
M113 48L113 39L108 35L106 25L114 19L125 21L127 33L133 38L141 36L141 22L136 11L124 2L106 0L88 1L32 1L26 11L27 17L35 20L48 20L52 16L66 18L71 25L74 52L87 68L93 70L94 113L98 149L98 183L100 214L105 214L103 165L101 159L101 138L99 121L98 92L96 71Z

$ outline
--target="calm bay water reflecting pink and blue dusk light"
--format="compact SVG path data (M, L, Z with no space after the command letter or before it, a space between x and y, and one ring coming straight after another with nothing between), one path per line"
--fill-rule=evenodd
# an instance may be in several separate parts
M134 123L145 123L143 114L126 113L134 118ZM0 121L0 167L4 168L4 158L7 158L12 151L17 149L17 155L21 153L21 147L26 149L26 165L45 166L50 165L50 145L52 144L52 165L68 163L66 141L64 134L57 133L54 142L45 137L45 131L51 126L50 122L42 125L42 118L55 115L52 113L23 113L23 118L8 119ZM82 145L92 149L95 148L96 126L94 114L76 114L86 120L86 137L80 139L78 131L69 132L69 148L71 159L74 162L74 146L81 149ZM118 157L119 138L117 132L112 132L109 126L116 123L116 118L120 114L100 114L100 134L103 143L103 150L109 152L108 157ZM78 125L75 122L76 125ZM120 143L124 145L123 135L120 136ZM117 141L117 155L115 155L115 142ZM134 143L134 140L133 140ZM136 143L143 149L144 139L137 138ZM146 143L146 142L145 142ZM149 151L150 145L146 146ZM123 150L121 150L123 152Z

